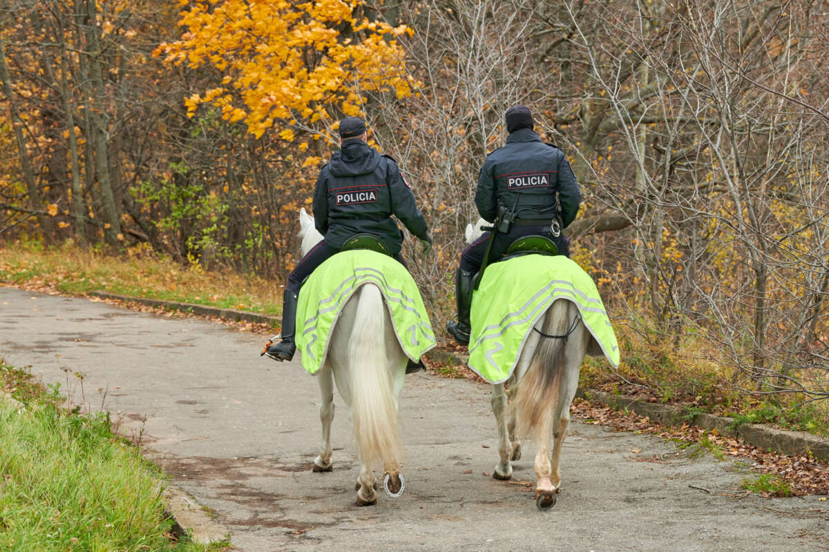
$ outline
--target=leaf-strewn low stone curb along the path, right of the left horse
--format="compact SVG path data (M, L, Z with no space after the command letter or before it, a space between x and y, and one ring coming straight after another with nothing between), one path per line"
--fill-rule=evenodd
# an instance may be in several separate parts
M453 362L466 366L468 356L445 351L429 351L426 356L438 362ZM614 410L630 410L664 425L694 425L704 430L716 430L729 437L743 439L747 444L788 456L811 456L829 462L829 439L806 431L778 430L764 424L740 424L734 418L695 412L678 406L662 405L579 387L576 396L597 401Z

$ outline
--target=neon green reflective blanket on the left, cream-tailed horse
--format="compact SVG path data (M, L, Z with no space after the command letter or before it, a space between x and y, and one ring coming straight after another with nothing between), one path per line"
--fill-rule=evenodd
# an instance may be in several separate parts
M406 356L417 362L434 348L429 315L409 271L382 253L365 249L344 251L318 266L299 291L295 341L308 373L316 373L325 362L342 307L360 286L370 282L383 294L397 341Z

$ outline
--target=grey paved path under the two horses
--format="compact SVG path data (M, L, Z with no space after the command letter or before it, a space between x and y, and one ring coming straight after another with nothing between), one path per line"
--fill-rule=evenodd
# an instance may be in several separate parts
M0 357L62 391L61 368L83 373L85 401L103 401L127 433L141 433L146 454L215 512L238 550L829 548L827 502L745 496L739 463L578 421L562 453L558 503L538 512L521 484L534 477L532 444L516 483L484 474L497 454L488 387L423 372L406 377L401 397L404 496L353 506L357 467L342 401L334 472L311 473L316 382L296 363L259 358L261 345L220 324L0 287ZM79 403L78 380L70 383Z

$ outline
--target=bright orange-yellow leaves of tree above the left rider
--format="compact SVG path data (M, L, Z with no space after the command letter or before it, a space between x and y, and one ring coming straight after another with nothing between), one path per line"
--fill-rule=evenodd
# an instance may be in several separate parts
M358 90L390 91L397 98L411 94L416 83L394 40L411 30L356 20L353 14L363 3L181 2L181 40L162 44L154 55L226 72L220 87L184 100L190 116L211 103L225 119L244 121L255 137L276 127L280 137L293 141L290 126L298 118L324 132L338 113L361 114L365 98Z

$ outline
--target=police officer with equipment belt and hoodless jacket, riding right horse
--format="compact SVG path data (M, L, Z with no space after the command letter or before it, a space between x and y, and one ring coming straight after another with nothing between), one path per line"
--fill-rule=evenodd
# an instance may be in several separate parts
M446 324L455 341L469 343L469 310L472 306L473 278L481 269L489 250L489 261L497 261L511 242L522 236L550 238L560 255L570 256L568 240L561 230L579 212L581 193L570 163L558 147L541 142L530 109L514 105L504 116L507 144L487 156L478 176L475 204L478 213L495 223L494 235L487 232L463 250L458 267L455 299L458 321Z

